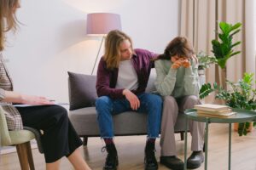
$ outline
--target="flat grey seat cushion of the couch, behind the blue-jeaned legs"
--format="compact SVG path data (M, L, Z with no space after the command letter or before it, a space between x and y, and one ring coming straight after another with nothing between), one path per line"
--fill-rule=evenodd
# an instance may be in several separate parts
M69 119L80 136L99 136L100 131L95 107L69 111ZM113 116L115 135L146 134L147 114L125 111Z

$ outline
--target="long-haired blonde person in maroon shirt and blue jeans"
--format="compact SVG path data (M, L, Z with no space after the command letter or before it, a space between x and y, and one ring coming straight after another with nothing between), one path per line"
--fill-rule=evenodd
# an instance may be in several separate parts
M110 31L105 53L97 71L97 120L108 156L104 170L115 170L119 164L113 143L112 116L124 111L148 114L148 137L145 146L145 169L158 169L154 142L160 133L162 100L159 95L145 93L153 59L157 54L145 49L133 49L131 38L123 31ZM140 125L135 125L140 126Z

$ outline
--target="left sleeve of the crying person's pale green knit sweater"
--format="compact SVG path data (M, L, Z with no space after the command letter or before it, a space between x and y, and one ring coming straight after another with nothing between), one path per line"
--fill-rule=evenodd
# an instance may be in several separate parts
M170 66L165 65L165 62L170 63ZM154 82L157 92L162 96L172 94L176 82L176 69L170 69L171 62L163 59L156 60L154 63L156 70L156 81Z

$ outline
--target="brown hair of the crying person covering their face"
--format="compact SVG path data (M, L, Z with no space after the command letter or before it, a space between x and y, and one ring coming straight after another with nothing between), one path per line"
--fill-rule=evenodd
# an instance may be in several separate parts
M160 54L158 59L171 59L172 56L188 57L189 59L195 54L189 40L186 37L175 37L165 49L164 54Z

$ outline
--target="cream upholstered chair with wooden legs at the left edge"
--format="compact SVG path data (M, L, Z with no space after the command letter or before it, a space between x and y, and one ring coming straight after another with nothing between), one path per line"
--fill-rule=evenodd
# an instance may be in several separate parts
M3 109L0 108L0 146L16 146L21 170L35 169L30 141L35 139L36 136L40 136L38 130L32 127L9 131ZM38 144L38 150L41 153L43 152L40 143Z

